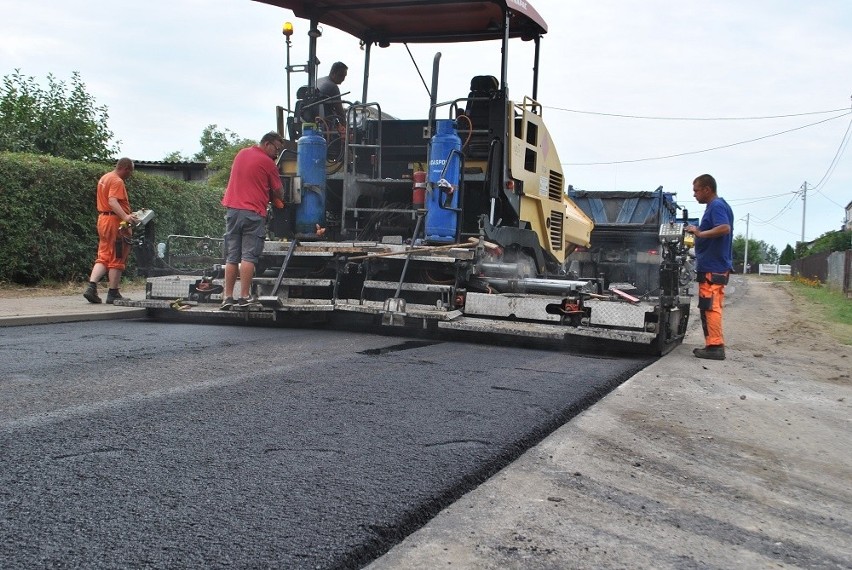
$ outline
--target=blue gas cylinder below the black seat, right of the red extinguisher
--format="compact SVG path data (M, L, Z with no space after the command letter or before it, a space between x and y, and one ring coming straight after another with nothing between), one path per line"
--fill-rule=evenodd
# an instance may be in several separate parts
M461 177L461 139L455 121L435 122L435 136L429 145L429 171L426 191L426 241L452 243L458 229L459 179ZM442 190L446 181L453 192Z

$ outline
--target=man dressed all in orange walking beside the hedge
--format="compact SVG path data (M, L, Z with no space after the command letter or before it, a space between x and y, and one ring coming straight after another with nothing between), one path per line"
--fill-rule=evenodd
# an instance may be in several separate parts
M98 256L89 276L89 286L83 297L90 303L100 303L98 281L108 275L109 291L106 302L112 304L123 299L118 292L121 273L130 254L131 226L138 223L130 210L127 187L124 181L133 174L133 161L121 158L115 169L98 181Z

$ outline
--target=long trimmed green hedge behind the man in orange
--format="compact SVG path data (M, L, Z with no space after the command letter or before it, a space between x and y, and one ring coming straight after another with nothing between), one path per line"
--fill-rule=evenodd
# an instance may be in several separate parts
M0 281L88 278L98 245L95 191L114 166L0 152ZM158 240L224 231L221 188L136 172L127 191L134 210L154 210Z

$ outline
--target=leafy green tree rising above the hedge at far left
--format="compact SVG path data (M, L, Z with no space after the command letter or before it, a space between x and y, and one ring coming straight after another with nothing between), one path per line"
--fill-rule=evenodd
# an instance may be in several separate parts
M0 150L111 162L118 151L110 144L108 119L107 107L96 105L79 72L71 74L70 87L48 74L47 89L19 69L3 77Z

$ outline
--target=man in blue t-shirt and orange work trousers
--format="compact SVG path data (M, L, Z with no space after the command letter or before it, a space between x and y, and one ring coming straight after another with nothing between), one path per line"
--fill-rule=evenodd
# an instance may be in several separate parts
M704 328L704 348L696 348L692 353L698 358L725 360L722 303L733 269L734 212L716 194L716 180L709 174L702 174L692 182L692 193L699 204L707 205L700 224L686 227L695 236L698 309Z

